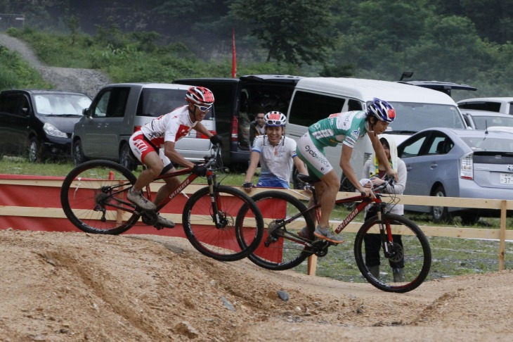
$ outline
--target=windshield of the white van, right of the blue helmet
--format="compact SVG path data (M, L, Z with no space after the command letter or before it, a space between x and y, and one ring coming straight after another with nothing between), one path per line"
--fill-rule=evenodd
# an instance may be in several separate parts
M387 131L412 134L431 127L467 128L456 106L434 103L391 102L396 120Z

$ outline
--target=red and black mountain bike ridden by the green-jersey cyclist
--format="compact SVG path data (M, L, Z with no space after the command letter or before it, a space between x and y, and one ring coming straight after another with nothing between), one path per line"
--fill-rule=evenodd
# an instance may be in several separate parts
M266 234L259 248L249 259L268 270L289 270L304 262L310 255L323 257L334 243L315 239L313 230L319 219L320 204L316 196L314 180L299 175L299 179L312 191L313 204L306 208L303 201L283 191L264 191L252 196L262 213L265 213ZM404 293L420 286L431 267L431 248L426 236L417 224L401 215L386 212L384 196L396 203L394 194L381 194L393 179L373 189L376 198L353 196L335 203L356 203L356 207L342 220L335 232L338 234L367 205L374 205L376 215L365 221L354 237L356 265L370 284L383 291ZM395 202L394 202L395 201ZM246 215L244 210L240 216ZM242 217L239 217L242 219ZM298 232L307 227L306 236ZM244 245L242 236L240 243ZM378 258L379 271L368 267L368 262Z

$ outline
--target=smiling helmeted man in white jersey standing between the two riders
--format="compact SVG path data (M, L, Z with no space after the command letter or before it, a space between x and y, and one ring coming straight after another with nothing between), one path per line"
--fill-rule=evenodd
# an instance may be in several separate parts
M260 115L260 114L259 114ZM269 186L288 189L292 164L296 165L300 173L307 175L306 167L296 156L296 141L285 137L286 118L283 113L269 112L261 114L265 123L265 135L259 135L254 139L254 145L249 156L244 187L246 192L251 192L253 184L251 179L257 165L260 162L261 175L257 186Z

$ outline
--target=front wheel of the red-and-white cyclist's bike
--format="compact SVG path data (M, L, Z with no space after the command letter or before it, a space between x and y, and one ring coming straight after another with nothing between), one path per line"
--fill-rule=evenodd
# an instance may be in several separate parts
M212 201L209 187L205 186L188 199L182 215L187 239L197 251L216 260L246 258L259 246L264 234L264 220L259 208L249 196L230 186L216 186L214 198ZM214 205L218 210L217 217ZM242 207L249 210L249 215L238 219ZM216 220L219 222L217 227ZM237 236L242 236L245 243L239 243Z

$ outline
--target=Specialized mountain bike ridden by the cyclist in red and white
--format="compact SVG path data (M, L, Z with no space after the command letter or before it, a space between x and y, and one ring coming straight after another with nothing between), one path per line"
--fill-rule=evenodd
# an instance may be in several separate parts
M183 206L182 224L187 239L197 251L216 260L234 261L247 257L259 246L264 221L252 198L239 189L216 182L214 170L222 168L218 165L220 152L221 148L214 146L212 156L205 157L208 185L188 198ZM65 177L60 202L67 218L83 232L121 234L136 224L153 226L157 212L198 176L190 168L184 168L157 177L155 180L187 174L190 175L167 201L158 205L156 211L147 211L126 199L137 179L134 174L112 161L91 160L74 167ZM150 186L143 192L151 200ZM245 217L237 216L241 208L247 211Z

